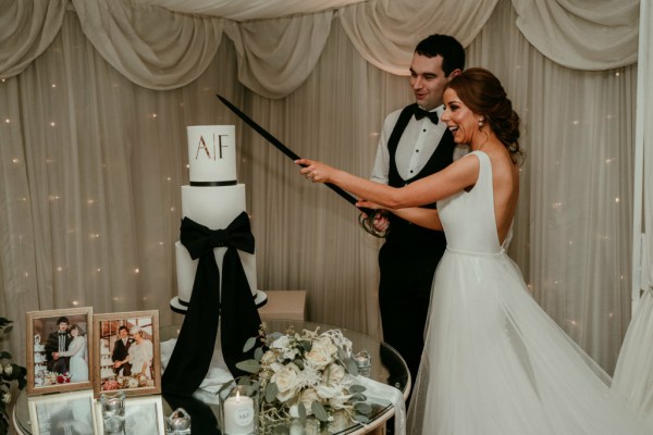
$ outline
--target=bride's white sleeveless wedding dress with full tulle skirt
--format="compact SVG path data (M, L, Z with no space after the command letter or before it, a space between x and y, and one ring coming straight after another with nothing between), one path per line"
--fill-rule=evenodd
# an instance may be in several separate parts
M609 376L529 295L503 250L492 166L438 202L447 238L433 283L412 435L636 435L653 431L611 394Z

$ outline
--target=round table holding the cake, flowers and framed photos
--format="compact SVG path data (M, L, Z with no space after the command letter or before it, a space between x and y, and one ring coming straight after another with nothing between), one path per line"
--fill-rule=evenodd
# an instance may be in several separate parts
M285 332L285 330L291 325L295 328L295 331L298 332L304 328L315 331L317 327L320 327L320 331L338 328L337 326L324 323L298 320L274 319L267 320L266 323L268 325L269 332ZM175 337L178 328L178 325L161 327L161 341L165 341L167 339ZM384 343L380 343L379 340L366 334L342 327L340 327L340 330L345 334L347 338L352 340L354 352L358 352L362 349L366 349L370 353L372 360L372 368L368 377L378 382L386 383L389 385L394 385L403 393L404 399L406 399L410 391L410 374L408 372L406 363L404 362L404 359L399 356L399 353L391 346ZM220 434L220 431L217 428L218 405L214 402L200 400L196 397L181 398L163 395L163 408L165 415L169 415L172 412L172 410L176 408L184 408L190 414L192 428L194 434ZM360 424L350 423L344 427L341 427L341 430L338 430L338 432L335 432L335 434L384 434L385 423L389 419L391 419L394 415L394 408L390 403L377 403L373 406L373 414L370 415L371 422L366 427L364 427ZM14 407L13 412L13 421L14 426L16 427L19 433L25 435L32 434L29 426L29 410L27 406L27 395L24 390L21 391L16 400L16 406ZM317 430L315 434L332 435L334 434L334 432L329 432L326 427L322 427L320 430Z

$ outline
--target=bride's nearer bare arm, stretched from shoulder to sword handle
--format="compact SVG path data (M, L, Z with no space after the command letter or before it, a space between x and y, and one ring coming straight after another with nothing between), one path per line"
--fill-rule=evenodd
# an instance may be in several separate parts
M459 159L433 175L396 188L357 177L315 160L299 159L295 163L305 166L299 172L313 183L334 184L393 210L432 203L473 186L480 166L478 158Z

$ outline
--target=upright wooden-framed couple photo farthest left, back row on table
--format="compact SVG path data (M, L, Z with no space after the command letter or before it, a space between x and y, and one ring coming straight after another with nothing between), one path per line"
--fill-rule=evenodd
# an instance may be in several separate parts
M29 311L27 395L93 388L93 308Z

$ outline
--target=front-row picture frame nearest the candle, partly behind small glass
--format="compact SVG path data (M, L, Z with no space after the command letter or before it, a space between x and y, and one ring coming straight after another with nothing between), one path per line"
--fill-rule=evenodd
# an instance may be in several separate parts
M102 406L99 400L95 405L96 421L99 435L104 435ZM125 399L125 434L165 434L163 421L163 401L161 396L128 397Z

